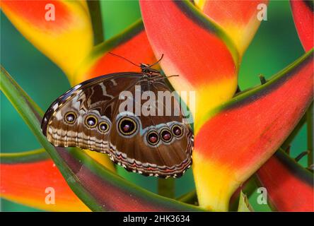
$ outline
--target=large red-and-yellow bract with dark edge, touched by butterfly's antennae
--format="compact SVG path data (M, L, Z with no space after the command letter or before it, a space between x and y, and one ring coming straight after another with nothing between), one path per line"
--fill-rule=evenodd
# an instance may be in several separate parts
M151 47L175 90L195 91L190 106L194 123L204 112L236 92L238 52L224 32L190 1L140 1L141 15ZM223 62L223 64L222 64ZM192 105L195 105L194 109Z

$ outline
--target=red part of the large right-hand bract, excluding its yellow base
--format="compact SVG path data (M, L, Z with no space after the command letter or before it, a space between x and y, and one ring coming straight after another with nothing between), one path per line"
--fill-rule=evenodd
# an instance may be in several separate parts
M313 100L313 57L289 75L209 119L195 139L199 154L243 171L277 150Z

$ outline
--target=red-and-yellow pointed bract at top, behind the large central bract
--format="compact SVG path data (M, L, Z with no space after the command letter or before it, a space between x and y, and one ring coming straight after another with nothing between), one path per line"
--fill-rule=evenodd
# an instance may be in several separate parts
M267 19L267 3L267 0L195 1L231 37L240 56L243 56L263 17Z

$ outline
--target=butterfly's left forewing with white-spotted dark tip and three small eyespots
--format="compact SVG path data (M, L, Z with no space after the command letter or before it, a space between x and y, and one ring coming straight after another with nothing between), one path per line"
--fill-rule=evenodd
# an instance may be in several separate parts
M54 146L76 146L107 153L112 110L120 90L141 73L113 73L76 85L55 100L42 120L42 132Z

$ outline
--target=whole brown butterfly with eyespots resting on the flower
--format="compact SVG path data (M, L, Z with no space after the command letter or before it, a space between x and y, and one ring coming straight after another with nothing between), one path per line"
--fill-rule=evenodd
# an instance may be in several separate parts
M42 133L54 146L106 153L130 172L181 177L192 165L193 133L178 98L153 98L171 92L167 77L151 68L155 64L135 64L141 72L110 73L74 86L47 109Z

